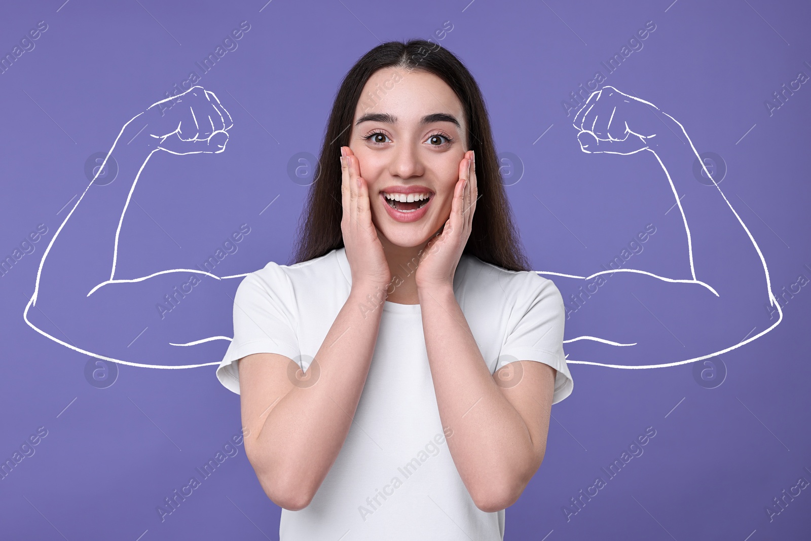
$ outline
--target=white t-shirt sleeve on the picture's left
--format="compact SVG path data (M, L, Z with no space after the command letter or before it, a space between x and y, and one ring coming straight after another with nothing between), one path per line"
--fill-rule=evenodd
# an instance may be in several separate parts
M217 379L239 394L238 359L275 353L297 360L294 298L290 280L275 263L248 274L234 295L234 339L217 367Z

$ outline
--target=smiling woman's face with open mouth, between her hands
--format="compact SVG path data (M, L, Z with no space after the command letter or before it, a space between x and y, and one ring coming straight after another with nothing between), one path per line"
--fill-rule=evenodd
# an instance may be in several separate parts
M436 75L388 68L369 78L349 146L369 188L372 222L389 243L422 247L448 220L466 134L461 101Z

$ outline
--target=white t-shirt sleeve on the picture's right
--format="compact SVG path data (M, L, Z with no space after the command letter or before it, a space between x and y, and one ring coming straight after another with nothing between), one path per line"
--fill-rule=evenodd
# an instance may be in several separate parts
M566 311L555 283L537 273L526 273L501 346L496 370L508 363L537 361L555 368L552 404L572 393L574 382L563 351Z

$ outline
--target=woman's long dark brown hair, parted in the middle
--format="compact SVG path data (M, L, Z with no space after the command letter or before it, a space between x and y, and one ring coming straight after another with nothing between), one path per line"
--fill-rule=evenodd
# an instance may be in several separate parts
M388 41L378 45L364 54L345 75L329 114L320 161L315 166L315 182L311 184L307 206L299 219L294 263L320 257L344 246L340 148L350 144L350 127L363 86L372 74L388 67L436 75L456 92L464 108L468 148L476 154L476 177L481 197L476 202L470 238L463 253L508 270L530 270L501 182L482 92L473 75L453 53L425 40Z

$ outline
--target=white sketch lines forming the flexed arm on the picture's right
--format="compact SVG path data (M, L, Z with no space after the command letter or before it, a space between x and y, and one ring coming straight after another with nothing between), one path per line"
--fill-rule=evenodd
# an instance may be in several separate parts
M629 104L629 105L623 105ZM676 118L673 118L671 115L663 112L659 107L650 103L650 101L645 101L639 99L637 97L630 96L629 94L625 94L620 92L614 87L611 86L604 86L603 88L592 92L584 103L577 111L577 114L574 117L574 121L572 123L573 127L575 127L577 132L577 140L580 143L582 152L586 152L587 154L597 154L597 153L606 153L606 154L620 154L624 156L628 156L630 154L635 154L637 152L642 152L646 150L651 152L656 160L659 162L659 165L662 167L665 176L667 177L667 182L670 184L670 188L673 193L673 199L676 201L676 206L679 208L679 212L681 213L681 219L684 222L684 232L687 234L687 249L688 249L688 257L689 257L689 264L690 264L690 275L692 279L689 280L676 280L673 278L659 276L654 273L649 273L643 270L639 270L636 268L617 268L617 269L610 269L605 271L600 271L599 273L591 274L590 276L577 276L573 274L563 274L563 273L555 273L551 271L535 271L539 274L547 274L551 276L560 276L560 277L567 277L567 278L581 278L584 281L590 280L594 277L599 276L600 274L612 274L612 273L641 273L646 274L650 277L654 277L661 281L667 282L680 282L686 284L697 284L702 287L706 287L707 290L710 290L712 294L716 297L719 297L719 294L712 286L705 283L704 281L699 280L696 277L696 270L693 266L693 241L690 236L690 228L687 223L687 217L684 215L684 208L681 206L680 195L676 191L676 186L673 184L673 179L671 178L670 172L667 170L667 167L664 165L661 157L656 152L652 145L649 143L649 140L656 136L655 133L637 133L633 131L631 127L628 125L628 121L624 120L624 114L628 113L628 109L635 107L637 110L641 109L642 107L650 107L655 109L658 114L663 114L670 118L673 122L676 122L676 125L680 128L682 135L688 141L690 148L693 150L697 160L699 163L702 164L702 168L707 175L707 178L710 178L713 182L714 187L719 191L721 197L726 202L727 206L732 211L732 214L735 215L736 219L740 223L740 226L744 228L747 236L749 237L749 241L751 241L752 246L757 251L757 255L760 257L761 263L763 265L763 273L765 273L766 277L766 289L768 290L769 300L772 306L777 307L777 311L779 312L779 318L772 324L769 328L766 328L760 333L753 335L752 337L748 337L745 340L737 342L732 346L724 348L723 350L714 351L708 354L704 354L700 357L693 357L692 359L683 359L679 361L675 361L672 363L660 363L660 364L647 364L647 365L620 365L620 364L607 364L607 363L594 363L591 361L578 361L574 359L569 359L567 355L566 362L573 363L573 364L589 364L598 367L608 367L608 368L626 368L626 369L645 369L645 368L663 368L663 367L674 367L680 364L686 363L694 363L696 361L701 361L703 359L709 359L710 357L714 357L719 354L727 353L727 351L735 350L736 348L743 346L744 344L748 344L750 341L756 340L758 337L762 337L764 334L768 333L771 329L775 328L777 325L780 324L780 321L783 320L783 311L780 309L780 305L775 298L775 294L772 293L771 290L771 280L769 277L769 268L766 266L766 259L763 257L763 253L760 247L757 246L755 239L753 238L752 234L749 232L749 228L746 227L744 221L740 219L738 213L736 213L735 208L732 208L732 204L730 204L729 200L727 200L726 195L723 195L723 191L719 187L718 183L715 182L714 178L710 174L710 171L707 170L706 164L704 161L699 157L698 151L696 150L695 145L693 145L693 140L689 138L687 135L687 131L684 131L684 126L682 126L681 122L677 121ZM617 117L615 121L614 117L617 114L617 109L620 108L620 116ZM625 110L623 110L625 109ZM633 110L633 109L632 109ZM603 116L601 120L600 117ZM605 122L604 118L607 117L608 121ZM663 126L667 127L667 125ZM581 135L587 134L581 138ZM677 135L678 136L678 135ZM633 344L620 344L616 341L609 341L605 338L599 337L592 337L592 336L581 336L571 338L569 340L564 340L565 343L570 343L573 341L578 340L591 340L591 341L599 341L604 344L610 346L635 346L636 343Z

